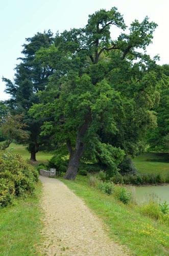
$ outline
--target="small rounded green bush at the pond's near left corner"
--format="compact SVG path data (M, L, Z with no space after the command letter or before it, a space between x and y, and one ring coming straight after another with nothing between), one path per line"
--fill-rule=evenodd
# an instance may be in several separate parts
M129 204L132 199L132 194L131 191L128 191L125 187L116 186L114 188L114 197L124 204Z

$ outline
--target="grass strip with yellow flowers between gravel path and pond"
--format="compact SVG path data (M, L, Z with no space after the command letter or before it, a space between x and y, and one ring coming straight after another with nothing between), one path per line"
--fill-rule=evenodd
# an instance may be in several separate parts
M90 187L86 177L78 176L76 181L61 180L104 221L109 236L130 248L132 254L169 254L168 227Z

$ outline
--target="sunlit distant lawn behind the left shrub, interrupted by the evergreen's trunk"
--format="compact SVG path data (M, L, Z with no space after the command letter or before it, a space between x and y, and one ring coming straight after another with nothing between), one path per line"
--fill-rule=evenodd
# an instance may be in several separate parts
M26 146L11 143L10 146L7 148L7 150L10 150L14 153L20 154L24 159L30 159L30 153L28 152ZM50 160L52 157L52 153L48 152L38 152L36 154L36 160L38 162L47 162L47 160Z

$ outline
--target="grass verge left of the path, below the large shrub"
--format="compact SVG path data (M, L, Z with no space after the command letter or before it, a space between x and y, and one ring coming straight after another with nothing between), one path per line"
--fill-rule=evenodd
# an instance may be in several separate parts
M34 195L16 199L14 205L0 209L0 255L38 255L41 241L40 182Z

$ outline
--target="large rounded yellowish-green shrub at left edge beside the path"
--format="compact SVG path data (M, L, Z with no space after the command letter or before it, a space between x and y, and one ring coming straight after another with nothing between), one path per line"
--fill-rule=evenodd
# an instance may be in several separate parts
M0 151L0 205L12 203L14 196L31 194L38 173L18 154Z

